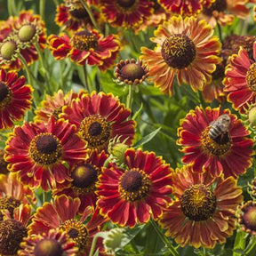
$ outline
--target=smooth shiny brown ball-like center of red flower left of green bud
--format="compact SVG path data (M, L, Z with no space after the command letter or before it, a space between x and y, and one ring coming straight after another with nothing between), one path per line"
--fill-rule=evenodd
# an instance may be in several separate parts
M90 191L91 187L95 188L95 182L98 180L98 172L92 164L82 164L76 166L71 177L73 179L73 186L82 189L87 188Z

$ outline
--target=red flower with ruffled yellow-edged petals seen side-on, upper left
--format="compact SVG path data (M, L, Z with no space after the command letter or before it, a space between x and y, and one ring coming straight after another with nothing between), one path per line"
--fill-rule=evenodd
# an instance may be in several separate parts
M66 34L48 37L49 47L56 60L70 57L79 65L96 65L101 71L112 67L120 51L120 42L114 35L104 38L96 30L78 31L69 38Z

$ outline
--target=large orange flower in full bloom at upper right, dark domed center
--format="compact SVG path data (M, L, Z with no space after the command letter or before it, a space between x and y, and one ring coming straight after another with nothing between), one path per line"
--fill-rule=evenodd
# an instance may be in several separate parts
M172 84L190 84L192 89L203 90L211 83L212 72L220 62L220 42L212 36L213 30L205 21L194 17L173 16L160 25L151 41L154 50L141 47L141 60L148 62L149 76L156 87L172 96Z

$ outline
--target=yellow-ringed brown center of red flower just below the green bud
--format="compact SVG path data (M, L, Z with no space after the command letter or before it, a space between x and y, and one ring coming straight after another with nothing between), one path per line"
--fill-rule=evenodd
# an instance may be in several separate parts
M137 201L146 197L151 187L148 175L139 169L124 172L119 181L119 192L126 201Z

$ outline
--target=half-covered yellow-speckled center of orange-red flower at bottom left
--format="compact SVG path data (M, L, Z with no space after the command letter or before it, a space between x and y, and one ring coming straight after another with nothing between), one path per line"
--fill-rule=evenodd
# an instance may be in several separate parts
M88 231L83 222L79 220L66 220L59 226L60 230L66 231L78 245L79 251L83 251L88 245Z

